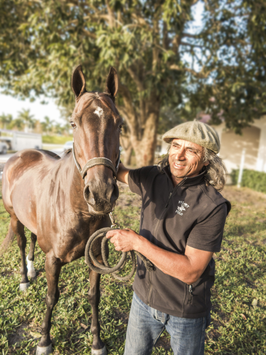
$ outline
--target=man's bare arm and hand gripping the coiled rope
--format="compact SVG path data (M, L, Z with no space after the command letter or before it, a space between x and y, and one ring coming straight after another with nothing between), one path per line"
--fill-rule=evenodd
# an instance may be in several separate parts
M185 255L168 252L131 229L109 231L106 237L111 238L110 242L115 245L117 251L135 250L165 274L176 277L188 285L199 279L213 256L212 252L205 252L188 245L185 248Z

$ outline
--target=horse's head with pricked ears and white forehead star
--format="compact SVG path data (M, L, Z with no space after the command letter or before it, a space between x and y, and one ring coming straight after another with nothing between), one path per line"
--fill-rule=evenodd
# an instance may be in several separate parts
M85 77L79 65L72 74L71 86L75 94L75 108L70 123L73 128L73 147L78 164L83 169L93 158L107 158L116 166L119 158L119 136L123 124L115 106L115 96L118 92L116 70L110 68L105 92L87 92ZM108 160L104 161L108 162ZM84 198L88 203L90 214L105 215L110 212L119 196L111 168L105 165L94 165L83 177Z

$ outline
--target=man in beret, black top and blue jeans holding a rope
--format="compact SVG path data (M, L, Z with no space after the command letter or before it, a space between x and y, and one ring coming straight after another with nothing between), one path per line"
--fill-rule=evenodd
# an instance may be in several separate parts
M142 197L139 234L113 230L117 251L135 250L153 262L148 272L138 259L125 355L148 355L166 329L175 355L204 354L210 324L210 289L215 252L231 209L221 190L225 167L216 155L217 133L201 122L186 122L163 135L170 143L157 166L129 170L118 180Z

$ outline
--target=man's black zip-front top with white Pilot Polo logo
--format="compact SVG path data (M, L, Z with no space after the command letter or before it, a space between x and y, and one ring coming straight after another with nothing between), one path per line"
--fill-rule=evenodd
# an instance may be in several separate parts
M212 186L206 186L204 175L185 177L174 187L169 166L163 174L157 166L130 170L129 188L142 197L139 234L177 254L184 255L186 245L219 252L231 204ZM202 317L210 311L213 259L191 286L158 268L148 272L139 258L137 265L133 289L147 305L186 318Z

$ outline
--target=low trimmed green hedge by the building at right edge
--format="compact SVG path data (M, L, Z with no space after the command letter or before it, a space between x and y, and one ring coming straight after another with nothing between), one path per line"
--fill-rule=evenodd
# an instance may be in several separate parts
M234 185L237 184L239 169L233 169L231 178ZM243 170L241 186L266 194L266 173L255 170Z

